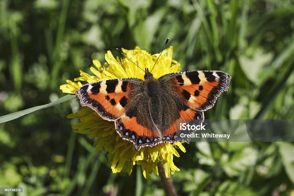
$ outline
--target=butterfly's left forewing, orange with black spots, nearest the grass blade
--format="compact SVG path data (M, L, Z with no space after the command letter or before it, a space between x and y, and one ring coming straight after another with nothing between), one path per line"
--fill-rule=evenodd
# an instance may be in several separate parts
M88 106L101 118L114 121L121 117L142 91L138 78L98 81L81 86L77 91L81 106Z

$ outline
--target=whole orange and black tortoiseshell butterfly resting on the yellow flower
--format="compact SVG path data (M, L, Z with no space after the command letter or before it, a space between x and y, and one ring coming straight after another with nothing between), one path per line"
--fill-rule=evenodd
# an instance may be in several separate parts
M114 121L116 132L132 142L136 150L184 141L176 137L176 120L204 119L203 112L229 90L231 79L222 71L186 71L156 79L151 71L145 70L145 81L104 80L85 84L76 91L81 106L90 107L104 120Z

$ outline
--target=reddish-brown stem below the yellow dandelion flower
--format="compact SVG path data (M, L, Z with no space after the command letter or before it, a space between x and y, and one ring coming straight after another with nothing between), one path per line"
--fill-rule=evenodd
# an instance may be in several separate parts
M161 182L163 184L163 189L166 195L168 196L177 196L175 187L173 185L173 181L171 180L171 177L167 178L164 172L163 162L158 162L158 173L161 178Z

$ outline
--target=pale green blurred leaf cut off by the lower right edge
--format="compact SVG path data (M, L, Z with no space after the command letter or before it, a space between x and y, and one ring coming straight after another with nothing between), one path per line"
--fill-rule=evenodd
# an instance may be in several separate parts
M285 167L285 171L291 180L291 182L294 184L294 145L288 142L277 142L279 146L279 152L282 157L282 162Z

